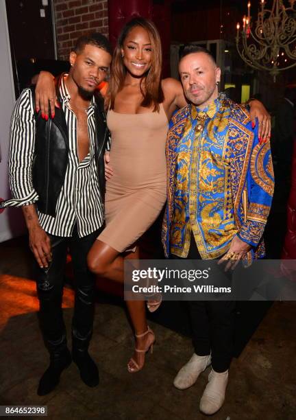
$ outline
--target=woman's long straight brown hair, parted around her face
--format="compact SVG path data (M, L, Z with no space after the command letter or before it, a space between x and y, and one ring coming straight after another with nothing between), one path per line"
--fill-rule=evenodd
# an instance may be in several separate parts
M153 22L140 16L132 19L123 27L114 49L109 86L110 108L114 109L115 97L123 88L127 72L125 66L123 65L123 58L121 56L123 43L127 34L129 34L129 32L136 26L143 27L148 32L151 40L151 67L140 82L140 91L143 95L141 106L149 108L149 106L153 104L153 112L159 111L159 104L161 104L164 100L160 82L162 70L160 35L158 34L158 30ZM144 82L144 86L142 82Z

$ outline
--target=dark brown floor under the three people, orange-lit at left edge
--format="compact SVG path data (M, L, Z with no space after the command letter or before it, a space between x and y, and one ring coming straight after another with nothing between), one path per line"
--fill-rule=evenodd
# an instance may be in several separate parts
M36 388L48 364L38 327L38 300L23 238L0 244L0 405L47 405L50 419L206 419L199 399L208 370L192 388L180 391L173 378L193 348L188 337L151 322L156 333L153 355L140 373L127 372L133 340L118 300L96 305L90 353L101 382L88 388L75 364L62 374L53 393L38 397ZM68 332L73 291L65 288ZM213 419L296 419L296 303L274 303L254 336L234 359L223 408Z

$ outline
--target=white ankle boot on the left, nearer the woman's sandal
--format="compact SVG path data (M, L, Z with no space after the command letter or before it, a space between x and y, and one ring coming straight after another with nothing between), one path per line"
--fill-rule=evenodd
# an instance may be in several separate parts
M193 353L192 358L177 373L173 384L178 389L186 389L195 384L199 374L211 363L210 355L199 356Z

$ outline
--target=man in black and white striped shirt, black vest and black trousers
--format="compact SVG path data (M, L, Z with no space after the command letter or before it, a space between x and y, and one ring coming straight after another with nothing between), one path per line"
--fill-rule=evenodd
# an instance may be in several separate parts
M39 266L40 326L50 364L40 379L38 395L55 388L72 358L86 385L99 383L97 366L88 354L95 279L86 257L103 224L103 154L108 129L103 100L94 93L111 58L110 44L103 35L79 38L70 54L71 70L57 84L60 108L55 108L56 115L51 119L34 109L32 89L21 93L12 115L9 168L13 198L3 207L22 207L29 246ZM62 317L68 248L75 277L72 358Z

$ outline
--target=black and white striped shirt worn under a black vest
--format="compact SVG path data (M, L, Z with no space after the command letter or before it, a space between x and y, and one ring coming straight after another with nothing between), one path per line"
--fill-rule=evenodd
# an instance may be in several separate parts
M79 237L99 229L103 224L103 204L99 191L99 180L95 163L95 115L94 98L86 110L88 155L79 163L77 152L77 119L69 105L70 95L62 80L60 85L62 108L69 135L69 163L64 185L56 205L56 217L38 211L42 229L51 235L71 236L77 222ZM10 128L10 189L12 200L5 207L20 207L38 201L38 194L32 183L36 122L34 117L32 91L25 89L16 102Z

